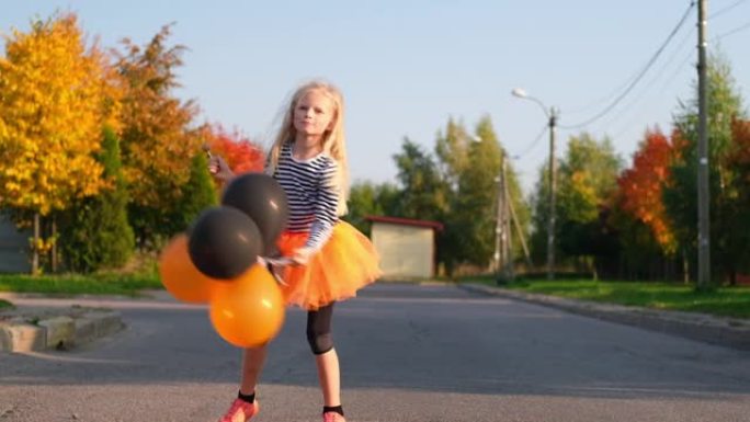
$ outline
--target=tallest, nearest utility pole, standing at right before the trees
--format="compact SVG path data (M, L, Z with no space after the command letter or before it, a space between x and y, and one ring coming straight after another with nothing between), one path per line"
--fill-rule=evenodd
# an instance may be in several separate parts
M707 289L711 284L711 228L708 203L708 126L706 98L706 8L707 0L698 1L698 272L697 289Z

